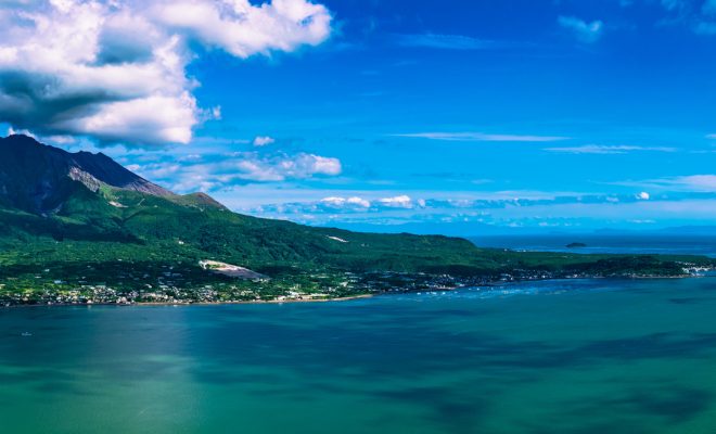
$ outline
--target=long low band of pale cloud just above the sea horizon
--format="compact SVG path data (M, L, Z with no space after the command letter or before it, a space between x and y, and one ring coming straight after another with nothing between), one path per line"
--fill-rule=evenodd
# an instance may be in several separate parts
M371 194L370 192L363 192ZM413 192L435 194L435 192ZM506 194L514 197L506 197ZM711 225L716 193L568 194L498 192L461 199L328 196L318 201L244 206L243 212L315 226L424 231L459 235L512 230L589 231L601 227L661 229L669 225ZM230 204L231 206L232 204ZM235 206L235 205L234 205ZM468 231L468 232L465 232Z

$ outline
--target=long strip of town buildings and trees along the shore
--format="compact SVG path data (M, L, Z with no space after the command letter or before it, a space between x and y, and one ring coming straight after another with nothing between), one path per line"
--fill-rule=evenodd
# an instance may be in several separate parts
M712 270L683 264L670 275L572 272L515 269L485 276L461 277L422 272L296 272L277 278L228 278L194 267L163 265L155 270L118 268L98 282L97 269L57 279L51 269L30 277L5 277L0 283L0 306L17 305L186 305L215 303L290 303L349 299L388 293L437 292L460 288L495 286L509 282L549 279L693 277ZM158 271L158 272L152 272ZM108 279L112 277L112 279Z

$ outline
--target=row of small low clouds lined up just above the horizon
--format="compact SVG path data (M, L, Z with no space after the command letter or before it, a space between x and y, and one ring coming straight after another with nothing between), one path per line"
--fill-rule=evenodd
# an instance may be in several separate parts
M302 190L304 192L304 190ZM706 204L713 219L716 192L713 193L649 193L636 190L624 194L578 194L534 196L535 192L512 192L512 199L502 193L484 193L475 197L412 200L406 194L391 195L381 192L356 192L360 196L328 196L320 201L273 203L260 201L260 205L245 205L243 210L264 217L277 217L315 225L379 224L436 221L436 222L494 222L499 225L524 224L532 226L565 226L563 218L581 216L603 225L605 219L619 218L647 221L662 210L693 216L691 208ZM293 197L293 195L291 196ZM353 201L349 197L355 197ZM375 199L373 199L375 197ZM383 197L383 199L380 199ZM270 199L269 199L270 200ZM370 206L359 206L367 201ZM353 204L351 204L353 202ZM412 204L412 205L410 205ZM705 205L704 205L705 206ZM629 214L628 210L634 212ZM549 224L549 225L548 225ZM464 233L463 233L464 234Z

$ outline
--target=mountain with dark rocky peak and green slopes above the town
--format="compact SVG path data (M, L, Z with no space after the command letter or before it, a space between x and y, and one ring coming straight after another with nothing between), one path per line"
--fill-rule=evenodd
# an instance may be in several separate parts
M204 193L175 194L104 154L68 153L26 136L0 139L3 234L5 240L31 237L40 244L49 238L60 252L76 242L89 247L111 242L117 244L100 256L117 251L131 251L136 258L149 252L162 259L212 256L256 268L336 265L358 257L358 268L413 270L413 259L439 265L425 259L443 248L475 250L446 237L357 234L234 214ZM346 268L351 267L357 265Z

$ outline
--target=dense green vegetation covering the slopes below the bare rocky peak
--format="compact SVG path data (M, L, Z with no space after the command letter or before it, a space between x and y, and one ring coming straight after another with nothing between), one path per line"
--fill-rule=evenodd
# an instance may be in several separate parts
M137 301L157 289L175 299L193 299L205 289L214 292L210 299L272 298L294 290L345 296L506 275L677 276L686 264L711 266L696 257L485 250L455 238L356 233L259 219L231 213L202 194L74 188L54 216L0 208L0 299L20 292L30 303L78 288L133 293ZM204 259L247 267L271 281L213 273L199 266ZM438 279L445 275L451 280Z

